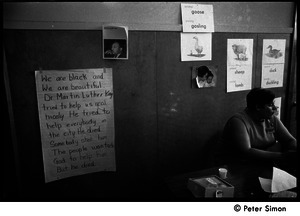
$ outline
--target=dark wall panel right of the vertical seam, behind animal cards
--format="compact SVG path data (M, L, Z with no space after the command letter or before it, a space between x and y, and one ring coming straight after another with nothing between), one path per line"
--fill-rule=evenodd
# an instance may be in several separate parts
M210 158L216 151L226 121L237 111L246 107L247 91L226 93L227 39L253 39L252 88L261 85L262 41L265 38L286 39L283 87L272 88L276 97L285 101L288 82L290 35L288 34L241 34L213 33L212 61L180 62L177 48L180 35L177 33L157 33L158 61L157 73L158 138L161 150L161 163L168 171L187 167L209 166ZM173 46L171 46L173 44ZM165 53L172 53L166 55ZM193 66L215 66L218 68L218 82L214 88L190 88L190 70ZM282 107L282 120L285 108Z

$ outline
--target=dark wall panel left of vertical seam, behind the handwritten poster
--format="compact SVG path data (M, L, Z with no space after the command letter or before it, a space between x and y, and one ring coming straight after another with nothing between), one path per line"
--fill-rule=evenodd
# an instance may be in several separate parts
M103 61L101 31L8 30L4 37L24 196L59 200L55 194L61 190L63 197L79 200L135 197L130 185L136 184L136 177L155 178L157 169L155 50L149 49L155 46L155 33L132 32L131 59L122 62ZM35 71L88 68L113 70L116 172L45 184ZM86 190L94 192L82 196Z

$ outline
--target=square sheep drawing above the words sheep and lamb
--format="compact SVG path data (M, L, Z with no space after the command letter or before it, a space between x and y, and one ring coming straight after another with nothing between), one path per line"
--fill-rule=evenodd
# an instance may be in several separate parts
M227 65L252 65L253 39L227 40Z

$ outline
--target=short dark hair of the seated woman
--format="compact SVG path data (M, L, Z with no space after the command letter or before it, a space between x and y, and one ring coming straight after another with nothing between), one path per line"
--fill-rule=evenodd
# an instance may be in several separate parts
M247 94L247 107L249 109L255 109L257 105L261 107L273 103L274 98L275 94L268 89L253 88Z

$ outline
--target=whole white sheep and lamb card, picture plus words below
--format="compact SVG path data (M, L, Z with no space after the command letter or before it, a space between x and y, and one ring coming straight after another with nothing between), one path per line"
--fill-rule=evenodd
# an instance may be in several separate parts
M227 92L252 86L253 39L227 40Z

